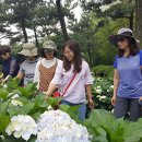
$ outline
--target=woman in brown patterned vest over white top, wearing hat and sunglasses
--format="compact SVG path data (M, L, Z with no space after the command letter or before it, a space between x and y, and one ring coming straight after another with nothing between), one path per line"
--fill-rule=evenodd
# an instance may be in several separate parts
M40 50L43 59L36 64L34 82L38 82L38 90L46 92L50 81L52 80L57 64L61 60L57 59L56 56L57 46L52 40L46 40L43 44Z

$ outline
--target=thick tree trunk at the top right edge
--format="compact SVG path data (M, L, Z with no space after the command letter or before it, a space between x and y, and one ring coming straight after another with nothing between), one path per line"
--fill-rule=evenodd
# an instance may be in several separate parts
M135 36L142 43L142 0L135 0Z

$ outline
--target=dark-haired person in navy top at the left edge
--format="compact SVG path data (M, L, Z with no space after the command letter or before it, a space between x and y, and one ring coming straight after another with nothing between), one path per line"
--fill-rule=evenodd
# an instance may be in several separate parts
M10 76L14 78L16 76L20 64L17 60L11 55L11 49L8 45L0 45L0 57L3 60L2 61L2 73L3 78L2 83L5 83Z

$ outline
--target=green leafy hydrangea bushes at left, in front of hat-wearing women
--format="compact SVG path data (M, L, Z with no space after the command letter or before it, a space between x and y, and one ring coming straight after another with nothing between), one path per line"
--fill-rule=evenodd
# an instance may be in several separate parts
M36 120L48 106L45 94L37 91L35 83L21 87L19 80L10 79L4 87L0 87L0 133L4 131L11 117L29 115Z

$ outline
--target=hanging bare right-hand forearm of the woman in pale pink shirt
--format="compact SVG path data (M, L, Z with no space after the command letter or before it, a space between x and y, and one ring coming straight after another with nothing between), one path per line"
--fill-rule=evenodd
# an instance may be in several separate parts
M94 108L94 102L92 99L92 91L91 91L91 85L85 85L85 90L86 90L86 96L87 96L87 100L88 100L88 106L91 108Z

